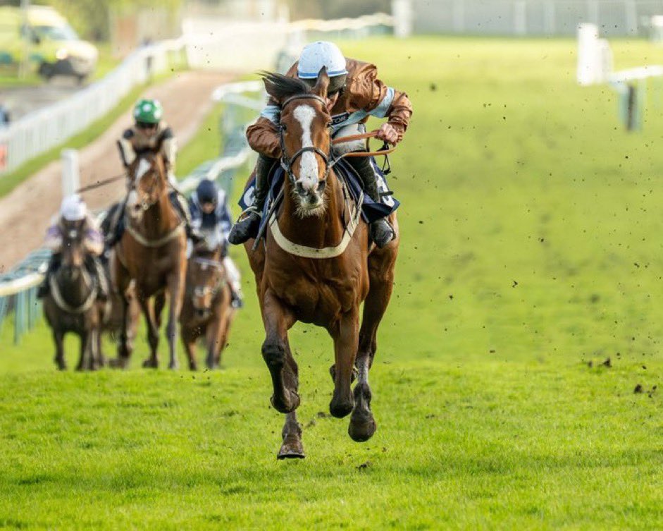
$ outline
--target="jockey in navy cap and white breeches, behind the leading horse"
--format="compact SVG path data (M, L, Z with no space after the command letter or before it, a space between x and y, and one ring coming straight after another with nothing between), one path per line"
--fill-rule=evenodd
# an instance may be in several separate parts
M228 256L228 231L233 224L228 207L228 196L220 190L213 181L203 179L189 200L192 226L194 230L204 236L206 233L215 233L221 242L223 267L228 273L228 284L232 293L232 305L242 307L242 285L240 271L235 262Z

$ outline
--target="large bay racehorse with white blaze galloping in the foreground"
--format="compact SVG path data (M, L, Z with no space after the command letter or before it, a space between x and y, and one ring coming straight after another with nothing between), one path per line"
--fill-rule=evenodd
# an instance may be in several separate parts
M264 246L252 250L254 240L249 240L244 247L255 274L266 332L262 355L271 373L271 403L286 414L277 458L303 458L302 429L295 413L298 368L287 332L297 321L328 331L335 354L330 367L334 381L330 413L340 418L352 412L350 437L370 439L376 422L368 370L392 292L399 240L381 250L369 243L360 205L347 199L345 183L334 172L326 71L321 71L312 89L301 80L278 74L266 73L263 80L268 94L283 102L280 162L286 176L283 202L267 221ZM397 229L395 213L390 221Z

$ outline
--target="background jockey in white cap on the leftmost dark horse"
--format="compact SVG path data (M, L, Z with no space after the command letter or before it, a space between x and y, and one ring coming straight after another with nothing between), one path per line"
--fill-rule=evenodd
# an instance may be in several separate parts
M39 285L37 297L44 298L50 291L50 277L61 263L63 232L67 230L66 222L80 221L80 230L83 232L83 249L85 250L85 267L87 271L97 279L97 299L108 300L109 286L106 280L104 267L99 261L99 255L104 251L104 238L101 236L97 221L87 211L85 202L79 195L65 197L60 207L60 214L52 220L51 226L46 233L44 247L51 250L51 260L44 275L44 281Z

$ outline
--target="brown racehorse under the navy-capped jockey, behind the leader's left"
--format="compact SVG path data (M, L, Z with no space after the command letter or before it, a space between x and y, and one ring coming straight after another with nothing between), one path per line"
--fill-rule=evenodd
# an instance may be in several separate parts
M195 349L201 336L205 338L207 368L219 367L235 315L230 305L230 286L222 252L223 246L219 245L218 238L216 242L208 239L194 248L187 266L180 334L191 370L197 370Z

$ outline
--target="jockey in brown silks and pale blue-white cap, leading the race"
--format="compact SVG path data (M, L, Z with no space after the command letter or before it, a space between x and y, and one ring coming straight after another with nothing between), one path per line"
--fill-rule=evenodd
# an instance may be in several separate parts
M407 129L412 106L407 94L388 87L378 79L378 70L371 63L343 56L332 42L318 41L308 44L302 50L299 61L290 67L286 75L304 80L313 87L318 72L323 66L330 77L327 105L332 116L332 136L340 138L366 132L369 116L388 118L380 127L376 138L390 144L397 144ZM243 219L237 221L230 231L230 243L244 243L256 238L262 209L268 192L268 173L281 157L278 137L280 102L270 98L260 117L247 129L249 145L258 152L256 164L256 199ZM334 146L335 154L366 151L363 140L343 142ZM369 157L348 157L345 159L361 178L366 195L380 202L376 172ZM371 237L382 248L394 237L395 232L385 218L373 221Z

